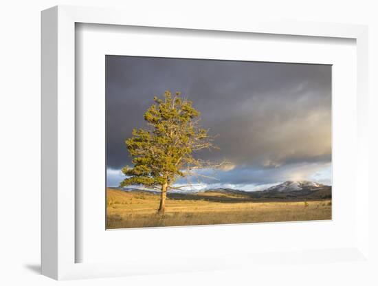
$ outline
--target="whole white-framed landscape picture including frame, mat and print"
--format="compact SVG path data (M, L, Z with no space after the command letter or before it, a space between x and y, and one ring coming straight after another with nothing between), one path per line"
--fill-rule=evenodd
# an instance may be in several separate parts
M42 12L43 274L368 265L367 28L144 19Z

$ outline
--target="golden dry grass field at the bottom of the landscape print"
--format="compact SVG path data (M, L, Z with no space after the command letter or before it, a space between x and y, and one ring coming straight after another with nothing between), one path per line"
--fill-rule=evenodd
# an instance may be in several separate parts
M108 188L107 228L331 219L331 199L255 201L241 195L199 192L168 194L163 217L157 214L158 206L158 194Z

